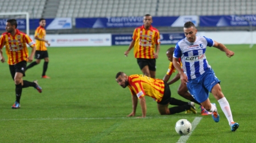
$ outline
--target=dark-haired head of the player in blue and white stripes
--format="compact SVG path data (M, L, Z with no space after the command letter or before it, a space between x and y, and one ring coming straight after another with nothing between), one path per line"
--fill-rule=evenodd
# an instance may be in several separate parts
M197 29L195 24L193 24L191 21L187 21L184 24L184 34L185 37L187 37L187 40L189 42L195 42L196 41L196 33L197 33Z

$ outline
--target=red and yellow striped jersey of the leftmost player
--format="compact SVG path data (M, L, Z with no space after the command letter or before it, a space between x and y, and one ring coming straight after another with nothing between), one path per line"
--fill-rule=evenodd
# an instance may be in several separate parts
M20 32L18 29L16 29L15 36L11 36L8 32L2 34L0 38L0 48L2 49L3 46L5 46L8 64L14 65L23 60L27 61L28 49L26 44L31 47L35 46L34 41L31 40L27 34Z

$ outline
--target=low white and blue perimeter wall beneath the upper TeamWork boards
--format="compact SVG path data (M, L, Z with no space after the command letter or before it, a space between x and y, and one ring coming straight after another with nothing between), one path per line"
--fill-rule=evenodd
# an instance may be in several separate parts
M30 35L34 37L34 35ZM256 44L256 31L254 32L197 32L197 36L212 38L222 44ZM112 46L129 45L132 33L130 34L47 34L46 39L54 47L67 46ZM181 38L183 33L160 33L162 45L174 45Z

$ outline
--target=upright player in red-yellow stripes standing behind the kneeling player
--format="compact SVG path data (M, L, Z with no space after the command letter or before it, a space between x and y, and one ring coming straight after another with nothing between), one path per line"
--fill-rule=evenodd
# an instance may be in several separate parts
M134 57L137 58L139 68L144 75L155 78L156 59L160 50L160 34L158 29L152 27L152 16L144 15L143 25L135 28L133 32L133 40L125 56L134 47Z

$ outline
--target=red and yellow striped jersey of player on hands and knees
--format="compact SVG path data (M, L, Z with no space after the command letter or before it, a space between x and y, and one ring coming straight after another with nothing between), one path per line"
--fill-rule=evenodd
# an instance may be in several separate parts
M144 75L130 75L128 77L129 89L132 95L137 95L139 99L143 96L150 96L156 102L162 101L164 94L164 81L152 79Z

